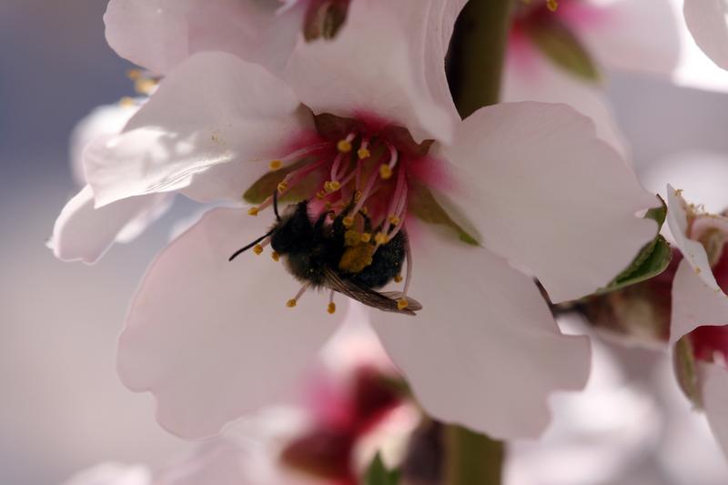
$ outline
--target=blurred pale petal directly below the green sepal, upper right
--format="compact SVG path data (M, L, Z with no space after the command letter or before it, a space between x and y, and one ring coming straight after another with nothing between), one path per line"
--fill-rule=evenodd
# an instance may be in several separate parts
M527 45L522 48L532 49ZM622 155L629 151L602 86L580 80L538 52L511 49L503 72L501 98L504 102L541 101L569 105L591 118L596 125L597 136L602 140Z

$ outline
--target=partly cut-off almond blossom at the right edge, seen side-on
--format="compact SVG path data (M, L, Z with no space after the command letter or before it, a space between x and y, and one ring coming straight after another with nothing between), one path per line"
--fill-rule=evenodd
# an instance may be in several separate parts
M683 257L672 282L670 323L678 377L728 453L728 217L701 213L672 187L667 195L668 223Z

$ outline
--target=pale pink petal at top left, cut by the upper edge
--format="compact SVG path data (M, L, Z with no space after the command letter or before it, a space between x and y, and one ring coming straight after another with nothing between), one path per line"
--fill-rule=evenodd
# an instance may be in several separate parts
M111 0L106 40L119 56L157 74L203 51L280 71L304 13L302 6L278 13L280 6L274 0Z

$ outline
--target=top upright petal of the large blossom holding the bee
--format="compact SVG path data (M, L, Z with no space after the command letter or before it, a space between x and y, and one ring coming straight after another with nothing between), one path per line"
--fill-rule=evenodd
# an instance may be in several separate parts
M454 127L449 106L430 94L422 46L406 27L387 3L351 2L334 42L298 44L286 67L288 83L316 114L378 116L409 128L417 141L448 141Z

